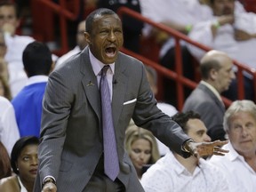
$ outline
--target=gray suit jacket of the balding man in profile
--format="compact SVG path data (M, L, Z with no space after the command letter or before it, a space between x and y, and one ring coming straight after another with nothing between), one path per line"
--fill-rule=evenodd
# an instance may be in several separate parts
M193 110L201 116L212 140L225 140L223 129L225 107L204 84L198 84L188 96L182 111L188 110Z

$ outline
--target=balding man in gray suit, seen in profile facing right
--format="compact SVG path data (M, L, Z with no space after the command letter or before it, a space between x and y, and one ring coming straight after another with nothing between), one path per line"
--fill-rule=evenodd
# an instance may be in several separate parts
M201 116L212 140L226 140L223 130L225 106L220 93L228 90L235 75L233 62L224 52L210 51L200 61L202 81L189 95L182 111L193 110Z

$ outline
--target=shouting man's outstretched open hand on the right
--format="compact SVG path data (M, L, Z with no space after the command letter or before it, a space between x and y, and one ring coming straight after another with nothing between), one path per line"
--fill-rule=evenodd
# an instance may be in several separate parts
M215 140L212 142L190 142L188 144L189 148L191 149L191 153L196 156L197 158L200 158L201 156L225 156L226 153L228 153L228 150L222 149L221 147L223 145L226 145L228 143L228 140L220 141Z

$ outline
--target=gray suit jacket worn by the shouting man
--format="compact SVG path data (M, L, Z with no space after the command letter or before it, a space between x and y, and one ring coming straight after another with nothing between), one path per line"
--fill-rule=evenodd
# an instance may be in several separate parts
M121 52L115 63L112 110L120 166L118 179L126 191L140 192L144 190L124 151L125 129L131 118L184 156L188 154L180 146L188 136L156 108L143 64ZM86 47L49 76L34 191L41 191L42 181L48 175L57 180L60 192L83 191L102 150L100 92Z

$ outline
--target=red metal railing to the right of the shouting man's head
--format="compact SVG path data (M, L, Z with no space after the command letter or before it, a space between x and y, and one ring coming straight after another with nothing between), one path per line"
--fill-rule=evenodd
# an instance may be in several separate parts
M177 84L177 98L179 98L178 103L177 103L177 108L180 110L183 107L184 103L184 92L183 92L183 86L188 86L191 89L194 89L196 87L196 81L190 80L183 76L182 74L182 59L181 59L181 50L180 50L180 40L186 41L188 44L193 44L196 47L204 50L204 51L210 51L211 48L204 46L203 44L198 44L197 42L191 40L188 38L188 36L185 36L184 34L181 34L179 31L176 31L175 29L169 28L164 26L161 23L156 23L153 20L149 20L148 18L143 17L140 13L134 12L131 9L128 9L126 7L121 7L118 10L118 14L122 18L124 14L130 15L132 18L136 20L141 20L144 23L148 23L149 25L158 28L160 30L163 30L164 32L168 33L169 35L173 36L175 39L175 53L176 53L176 61L175 61L175 70L172 71L170 69L162 67L160 64L148 60L146 57L141 56L139 54L136 54L135 52L128 51L126 49L123 49L123 52L132 55L133 57L141 60L145 64L156 68L157 72L160 73L163 76L166 76L168 78L171 78L176 81ZM248 68L244 66L241 63L238 63L236 60L234 60L234 64L237 67L237 80L238 80L238 99L243 100L244 99L244 76L243 72L246 71L249 74L252 74L253 76L253 84L254 84L254 90L256 90L256 72L252 68ZM256 95L256 94L255 94ZM230 103L232 102L231 100L228 100L225 97L222 97L225 105L228 107Z

